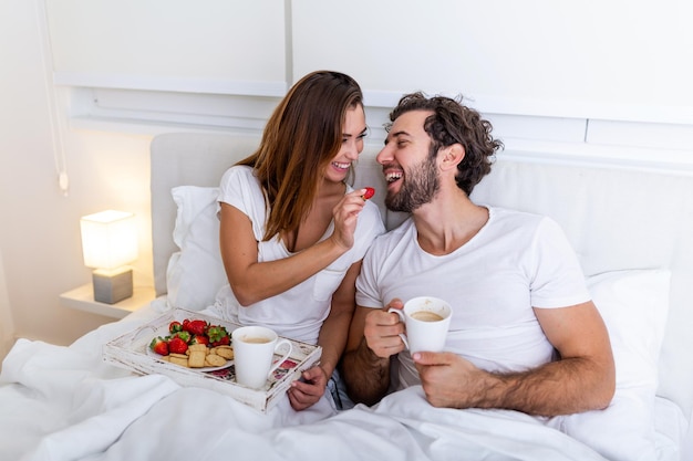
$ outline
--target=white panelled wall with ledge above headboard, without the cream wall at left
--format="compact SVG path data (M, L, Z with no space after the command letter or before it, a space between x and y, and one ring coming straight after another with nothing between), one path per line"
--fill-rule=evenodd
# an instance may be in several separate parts
M399 97L422 90L463 94L509 150L559 151L550 142L693 166L681 155L693 145L691 2L178 0L164 20L162 0L46 1L54 78L81 127L261 129L288 85L335 69L361 83L375 138Z

